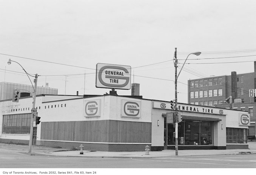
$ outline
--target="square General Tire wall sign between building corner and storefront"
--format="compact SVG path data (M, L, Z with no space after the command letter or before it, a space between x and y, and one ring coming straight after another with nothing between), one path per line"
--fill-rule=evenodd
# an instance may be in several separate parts
M140 118L140 101L122 100L122 117Z

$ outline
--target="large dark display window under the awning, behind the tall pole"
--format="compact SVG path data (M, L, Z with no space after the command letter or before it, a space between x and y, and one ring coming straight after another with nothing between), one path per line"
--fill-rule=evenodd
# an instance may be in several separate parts
M175 124L168 124L168 145L175 145ZM178 124L178 145L213 145L213 121L188 120Z

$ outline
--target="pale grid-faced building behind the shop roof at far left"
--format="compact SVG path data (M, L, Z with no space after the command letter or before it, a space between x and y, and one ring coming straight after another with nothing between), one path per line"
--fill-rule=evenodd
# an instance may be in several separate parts
M11 99L14 89L19 89L21 93L22 92L27 92L27 93L34 92L34 89L31 85L0 82L0 100ZM58 95L58 89L37 86L36 95L39 95L39 94Z

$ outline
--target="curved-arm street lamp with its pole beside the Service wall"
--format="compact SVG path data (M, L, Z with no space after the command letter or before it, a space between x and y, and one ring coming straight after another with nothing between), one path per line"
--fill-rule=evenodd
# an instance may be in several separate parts
M15 62L11 59L8 60L7 64L8 65L11 65L11 62ZM15 62L15 63L18 63L18 62ZM18 63L20 65L20 63ZM22 67L22 65L20 65ZM25 71L25 69L22 67L22 69ZM30 75L28 74L28 72L25 71L25 73L27 75ZM34 77L33 75L30 75L31 77ZM33 102L32 102L32 109L31 109L31 112L32 112L32 116L31 116L31 125L30 125L30 137L29 137L29 149L28 149L28 152L31 152L32 150L32 139L33 139L33 122L34 122L34 116L35 116L35 113L36 113L36 109L35 109L35 97L36 97L36 91L37 91L37 77L38 77L38 74L35 74L35 86L33 86L29 76L29 80L32 84L32 87L34 89L34 93L32 93L32 99L33 99Z

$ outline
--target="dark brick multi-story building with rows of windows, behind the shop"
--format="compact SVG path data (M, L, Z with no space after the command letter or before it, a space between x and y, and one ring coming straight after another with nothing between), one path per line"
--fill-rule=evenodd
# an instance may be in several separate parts
M188 104L213 106L224 103L229 97L231 103L235 98L251 103L254 97L249 97L249 89L256 89L256 62L251 73L231 72L231 75L188 80Z

